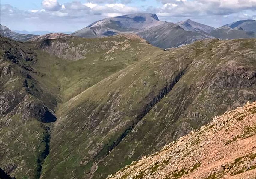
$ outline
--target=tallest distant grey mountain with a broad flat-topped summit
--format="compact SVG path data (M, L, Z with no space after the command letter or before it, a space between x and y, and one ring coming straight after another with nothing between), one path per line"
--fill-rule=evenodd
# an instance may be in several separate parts
M128 14L96 21L72 35L87 38L112 36L119 33L134 33L162 23L155 14Z

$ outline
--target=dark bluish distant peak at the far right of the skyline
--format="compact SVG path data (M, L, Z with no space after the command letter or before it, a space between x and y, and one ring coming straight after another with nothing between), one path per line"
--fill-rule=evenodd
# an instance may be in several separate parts
M224 25L223 27L230 27L232 29L240 29L247 32L254 32L256 33L256 21L255 20L243 20L243 21L236 21L231 24Z

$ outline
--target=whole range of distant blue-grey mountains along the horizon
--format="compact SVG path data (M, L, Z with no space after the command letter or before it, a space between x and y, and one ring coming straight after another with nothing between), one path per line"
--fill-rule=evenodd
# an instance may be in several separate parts
M2 27L4 26L1 26L1 28ZM6 28L7 27L5 27L5 29ZM1 31L5 32L6 30L3 29ZM29 33L27 31L16 31L18 33L13 31L10 33L9 29L7 31L8 33L2 33L2 36L6 36L5 34L12 34L6 37L19 41L34 38L33 35L27 34ZM50 32L37 31L31 33L42 35ZM156 14L137 13L105 18L92 23L81 30L71 33L71 35L85 38L99 38L124 33L137 34L146 39L150 44L167 49L191 44L194 41L202 39L255 38L256 21L237 21L215 29L214 27L200 24L190 19L174 24L171 22L160 21Z

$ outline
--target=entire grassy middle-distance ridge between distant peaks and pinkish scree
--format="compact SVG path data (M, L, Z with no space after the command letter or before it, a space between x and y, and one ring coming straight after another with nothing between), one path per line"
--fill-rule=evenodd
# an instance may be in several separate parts
M2 39L1 100L12 105L1 114L1 152L8 154L1 161L21 165L18 153L8 152L15 148L10 140L38 149L22 148L34 164L25 160L31 168L14 169L21 172L16 178L33 178L40 166L41 178L104 178L214 115L256 100L254 39L205 40L169 51L133 35ZM57 121L43 123L46 111ZM31 140L10 135L16 123ZM12 139L2 140L2 131Z

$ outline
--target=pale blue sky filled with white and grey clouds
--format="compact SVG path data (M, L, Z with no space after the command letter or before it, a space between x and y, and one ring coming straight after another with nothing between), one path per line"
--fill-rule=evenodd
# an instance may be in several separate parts
M256 0L1 0L0 23L11 30L76 31L94 21L155 13L162 21L186 19L220 27L256 20Z

